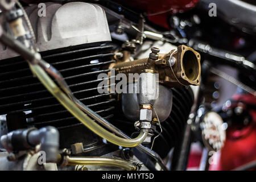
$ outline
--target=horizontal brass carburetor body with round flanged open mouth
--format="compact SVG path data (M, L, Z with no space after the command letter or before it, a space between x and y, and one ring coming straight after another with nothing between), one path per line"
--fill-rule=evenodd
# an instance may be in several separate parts
M200 85L201 56L191 47L181 45L169 53L159 53L158 59L148 57L134 61L110 64L109 69L115 68L117 73L142 73L152 70L159 73L159 82L171 86Z

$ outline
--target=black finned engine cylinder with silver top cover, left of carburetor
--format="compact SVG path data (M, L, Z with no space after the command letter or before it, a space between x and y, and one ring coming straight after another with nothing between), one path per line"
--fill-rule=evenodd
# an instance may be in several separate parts
M113 46L105 44L111 38L101 7L79 2L63 6L47 3L47 16L42 18L38 18L36 5L26 11L34 22L36 46L42 51L42 57L63 74L80 101L102 117L112 117L114 99L110 99L109 94L97 92L100 81L97 75L109 71L101 67L113 63L111 57L114 55ZM88 22L82 23L84 21ZM71 134L68 129L79 127L76 119L31 75L22 57L6 56L11 55L10 52L9 49L1 51L1 114L7 114L9 129L51 125ZM70 148L72 143L79 142L80 139L76 138L88 138L86 132L76 132L80 137L74 134L71 134L73 137L64 137L61 146ZM93 140L90 142L95 143Z

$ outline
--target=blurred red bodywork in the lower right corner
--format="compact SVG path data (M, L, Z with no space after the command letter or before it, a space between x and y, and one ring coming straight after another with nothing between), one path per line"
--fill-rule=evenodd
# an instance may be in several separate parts
M235 95L233 101L256 105L256 98L251 94ZM228 128L225 145L216 159L218 164L211 165L209 170L231 170L256 160L256 110L249 113L252 117L249 125Z

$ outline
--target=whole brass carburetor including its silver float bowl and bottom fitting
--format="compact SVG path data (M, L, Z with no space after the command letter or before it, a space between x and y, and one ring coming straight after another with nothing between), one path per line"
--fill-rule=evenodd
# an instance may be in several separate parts
M135 122L135 129L149 130L144 141L147 143L151 142L155 123L165 121L171 113L170 88L199 85L201 75L200 54L191 47L181 45L169 53L159 53L158 48L152 47L151 51L148 58L131 61L130 52L124 49L119 52L121 56L115 55L116 62L109 67L116 73L124 73L128 79L130 73L139 74L137 79L126 79L129 90L131 86L139 92L124 92L119 98L122 97L123 114Z

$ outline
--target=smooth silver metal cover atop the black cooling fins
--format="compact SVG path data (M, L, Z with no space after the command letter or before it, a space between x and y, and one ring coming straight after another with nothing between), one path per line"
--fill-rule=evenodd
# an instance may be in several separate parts
M110 41L105 11L84 2L46 3L46 16L38 16L38 5L26 9L35 32L39 51ZM86 10L86 11L84 11ZM67 13L68 12L68 13ZM9 48L0 48L0 59L18 56Z

